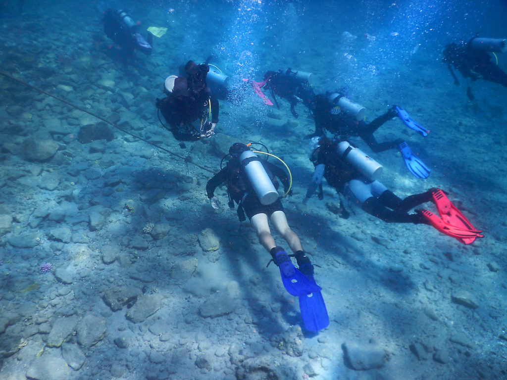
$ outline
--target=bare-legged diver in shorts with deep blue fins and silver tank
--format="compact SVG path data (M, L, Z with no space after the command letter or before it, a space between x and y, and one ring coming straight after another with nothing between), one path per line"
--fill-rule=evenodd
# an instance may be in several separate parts
M250 144L248 144L250 145ZM285 172L278 166L261 160L250 150L248 145L234 143L229 148L231 159L227 165L215 174L206 184L206 194L214 209L220 208L214 190L221 184L227 185L229 207L237 203L237 214L244 221L245 213L250 219L259 242L271 254L272 261L280 270L285 289L300 300L301 315L309 331L318 331L329 325L329 317L320 293L321 288L313 277L313 265L306 256L298 235L289 227L283 206L278 198L278 177L290 194L290 182ZM269 228L268 219L276 231L287 242L294 252L299 269L297 269L285 250L277 246Z

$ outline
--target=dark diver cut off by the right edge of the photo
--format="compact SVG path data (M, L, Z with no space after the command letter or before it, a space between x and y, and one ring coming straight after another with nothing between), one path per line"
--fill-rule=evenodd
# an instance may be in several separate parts
M507 87L507 74L491 61L492 56L490 54L494 55L495 52L503 53L505 51L507 51L507 40L475 36L468 42L460 41L457 44L451 43L446 45L442 62L447 63L447 68L456 86L459 85L459 81L452 66L465 79L470 78L472 81L484 79L485 81L495 82L503 87ZM498 63L498 60L496 62ZM467 93L467 95L471 98L471 94ZM470 100L473 100L473 96Z

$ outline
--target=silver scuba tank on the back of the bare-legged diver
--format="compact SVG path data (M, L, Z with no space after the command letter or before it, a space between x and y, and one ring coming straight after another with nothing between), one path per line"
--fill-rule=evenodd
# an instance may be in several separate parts
M278 199L278 192L257 155L251 150L245 150L239 156L239 162L259 201L265 206L275 202Z

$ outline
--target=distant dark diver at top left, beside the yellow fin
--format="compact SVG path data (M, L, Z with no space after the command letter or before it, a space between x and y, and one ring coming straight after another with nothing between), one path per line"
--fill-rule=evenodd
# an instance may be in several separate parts
M105 34L125 52L126 57L132 56L134 50L139 50L146 55L151 54L151 43L144 40L143 36L137 32L138 25L127 12L108 8L103 14L102 22ZM152 35L148 33L149 40Z

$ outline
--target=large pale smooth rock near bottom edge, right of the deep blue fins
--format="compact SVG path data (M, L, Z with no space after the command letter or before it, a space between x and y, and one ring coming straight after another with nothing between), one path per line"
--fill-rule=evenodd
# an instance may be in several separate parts
M342 350L346 362L356 370L381 368L389 359L383 348L372 343L347 342Z

